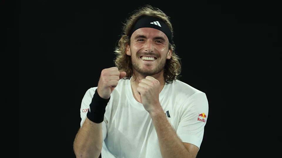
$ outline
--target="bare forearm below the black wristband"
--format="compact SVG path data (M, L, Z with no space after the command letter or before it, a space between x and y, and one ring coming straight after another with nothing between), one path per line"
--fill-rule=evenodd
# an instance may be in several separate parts
M102 145L102 123L94 123L86 118L73 143L76 157L98 158Z

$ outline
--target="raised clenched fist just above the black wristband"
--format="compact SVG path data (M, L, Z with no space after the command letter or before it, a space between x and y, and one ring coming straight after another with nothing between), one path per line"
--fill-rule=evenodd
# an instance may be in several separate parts
M98 82L97 92L101 98L110 98L111 93L120 79L125 77L126 72L119 72L117 67L103 69Z

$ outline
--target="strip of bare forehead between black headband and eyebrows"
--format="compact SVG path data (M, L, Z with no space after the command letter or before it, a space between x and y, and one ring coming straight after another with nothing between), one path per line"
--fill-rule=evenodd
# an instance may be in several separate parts
M139 28L132 33L132 37L134 38L137 35L144 35L147 38L163 37L165 40L168 40L167 35L155 28Z

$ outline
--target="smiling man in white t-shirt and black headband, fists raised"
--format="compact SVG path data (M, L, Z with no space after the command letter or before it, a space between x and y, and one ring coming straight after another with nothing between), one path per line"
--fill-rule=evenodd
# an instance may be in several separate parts
M116 67L103 69L81 103L77 157L194 158L208 115L205 93L177 80L172 25L145 6L125 24Z

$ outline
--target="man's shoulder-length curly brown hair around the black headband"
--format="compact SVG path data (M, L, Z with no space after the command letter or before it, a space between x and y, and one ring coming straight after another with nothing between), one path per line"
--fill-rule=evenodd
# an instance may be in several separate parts
M134 74L131 56L126 54L126 44L128 43L130 45L130 31L135 22L143 16L154 16L162 19L169 27L173 37L172 24L169 21L169 17L163 11L150 5L146 5L139 10L135 10L133 15L126 20L126 23L123 26L123 35L118 41L118 47L116 47L114 51L116 54L116 58L114 60L116 67L120 71L126 72L124 79L130 79ZM174 79L179 79L179 74L181 72L180 58L175 53L175 44L173 41L169 43L169 49L172 50L172 56L169 60L166 60L164 66L164 80L166 83L172 83Z

